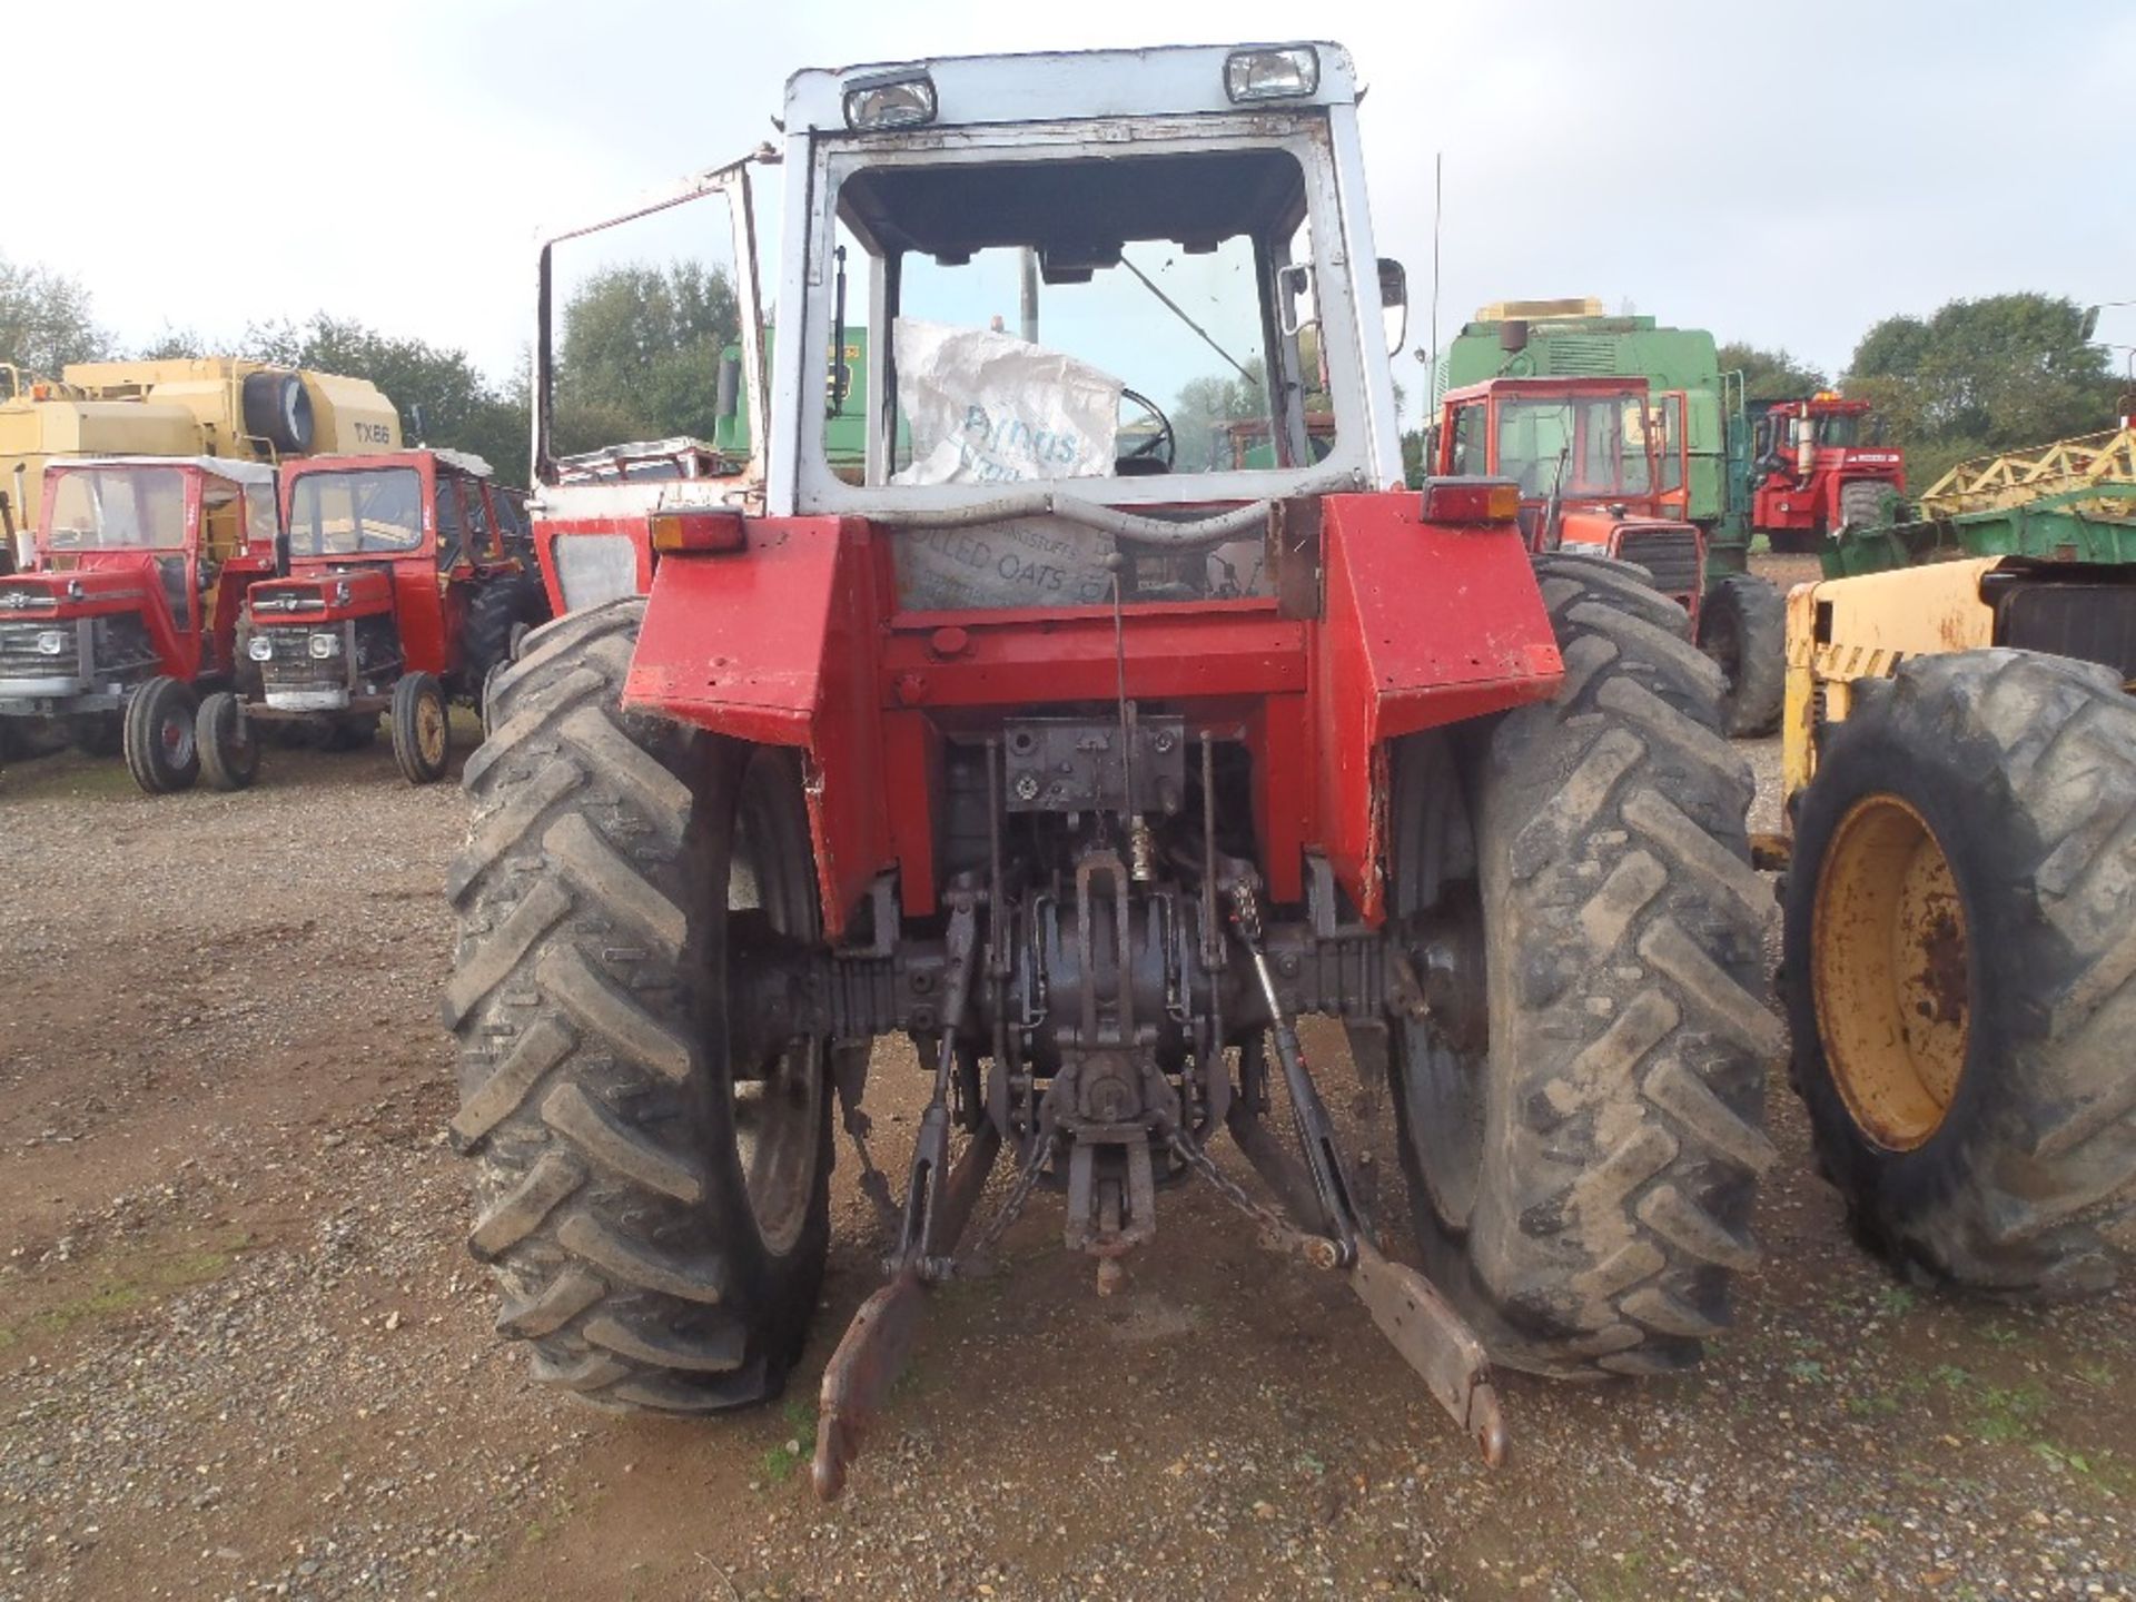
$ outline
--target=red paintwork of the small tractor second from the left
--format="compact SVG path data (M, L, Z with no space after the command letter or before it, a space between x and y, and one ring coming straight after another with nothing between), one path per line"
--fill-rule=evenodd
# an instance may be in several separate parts
M519 560L506 555L502 523L496 513L496 487L438 457L436 451L382 451L378 455L355 457L305 457L282 464L282 521L288 523L295 504L297 483L323 472L365 472L372 468L414 468L423 478L423 536L412 551L363 551L357 555L290 555L293 579L318 579L323 572L378 572L387 575L389 590L382 598L367 600L355 611L335 617L391 611L402 641L402 660L408 673L436 673L451 679L459 669L459 628L468 611L468 583L498 572L517 572ZM461 498L459 528L466 532L459 560L449 568L438 566L438 498ZM474 521L468 517L468 498L481 498L487 545L468 553L474 538ZM370 585L363 590L372 596ZM318 613L301 613L314 619ZM284 615L256 619L261 624L290 622Z

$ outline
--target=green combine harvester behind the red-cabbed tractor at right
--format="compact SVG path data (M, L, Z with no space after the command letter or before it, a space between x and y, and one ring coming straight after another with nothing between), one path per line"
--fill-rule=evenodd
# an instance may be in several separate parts
M1438 397L1491 378L1645 378L1653 395L1683 391L1690 449L1685 517L1707 536L1698 647L1728 677L1730 735L1779 724L1786 609L1749 570L1749 412L1743 376L1724 374L1705 329L1664 329L1651 316L1604 316L1593 299L1497 301L1440 352Z

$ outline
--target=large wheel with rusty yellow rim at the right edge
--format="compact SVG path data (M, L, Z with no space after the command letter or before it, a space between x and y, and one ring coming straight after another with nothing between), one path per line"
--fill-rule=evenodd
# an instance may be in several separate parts
M1781 985L1856 1232L2004 1294L2117 1277L2136 1209L2136 701L2036 651L1905 662L1803 792Z

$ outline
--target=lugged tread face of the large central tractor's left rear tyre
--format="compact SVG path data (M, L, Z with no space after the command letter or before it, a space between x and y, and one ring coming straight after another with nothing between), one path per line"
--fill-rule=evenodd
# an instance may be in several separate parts
M671 886L698 850L681 775L703 737L622 711L641 617L626 598L545 624L493 686L449 874L451 1134L476 1164L470 1247L500 1279L498 1329L534 1376L703 1414L778 1395L788 1356L767 1352L782 1314L741 1269L756 1226L688 1134L703 1053L677 998L703 957Z

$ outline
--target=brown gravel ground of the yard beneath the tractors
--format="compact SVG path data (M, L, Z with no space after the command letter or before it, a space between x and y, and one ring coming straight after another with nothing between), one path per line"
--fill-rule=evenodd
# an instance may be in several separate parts
M1497 1474L1341 1286L1173 1192L1102 1303L1034 1205L818 1508L816 1378L882 1247L850 1160L784 1408L611 1418L491 1335L442 1141L457 790L269 752L150 801L53 756L0 816L0 1602L2136 1596L2136 1294L1892 1284L1779 1079L1737 1329L1675 1382L1502 1378Z

